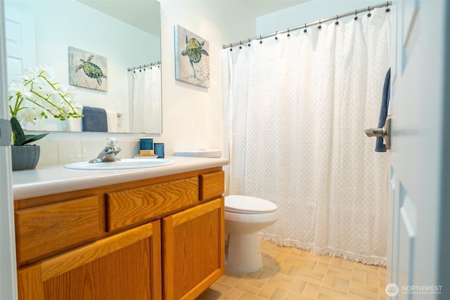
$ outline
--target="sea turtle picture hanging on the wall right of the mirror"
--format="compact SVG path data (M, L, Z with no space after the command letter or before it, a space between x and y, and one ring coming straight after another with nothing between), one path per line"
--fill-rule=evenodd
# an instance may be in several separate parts
M210 43L175 25L175 79L210 87Z

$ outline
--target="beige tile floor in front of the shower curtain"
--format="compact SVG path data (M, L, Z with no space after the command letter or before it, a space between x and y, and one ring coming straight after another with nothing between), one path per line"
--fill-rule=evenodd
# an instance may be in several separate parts
M261 241L264 268L226 270L197 300L386 299L386 268Z

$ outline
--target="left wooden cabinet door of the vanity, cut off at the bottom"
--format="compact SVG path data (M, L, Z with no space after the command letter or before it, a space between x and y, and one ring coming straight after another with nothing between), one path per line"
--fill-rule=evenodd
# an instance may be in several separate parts
M19 299L161 299L160 221L18 270Z

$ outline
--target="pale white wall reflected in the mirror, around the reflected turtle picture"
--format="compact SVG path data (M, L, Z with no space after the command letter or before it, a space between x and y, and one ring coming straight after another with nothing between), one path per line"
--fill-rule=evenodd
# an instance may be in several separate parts
M55 80L69 84L69 46L107 58L108 91L76 86L77 100L122 113L122 130L128 132L127 68L160 60L160 39L75 0L6 0L5 6L6 14L13 7L34 16L36 62L51 65ZM54 122L52 130L61 130L61 124Z

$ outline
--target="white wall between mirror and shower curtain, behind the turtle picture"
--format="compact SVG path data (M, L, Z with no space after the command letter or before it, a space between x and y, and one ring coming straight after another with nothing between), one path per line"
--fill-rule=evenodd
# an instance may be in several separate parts
M255 18L236 1L161 0L162 140L166 152L222 148L222 45L256 32ZM175 79L174 25L210 42L210 88Z

